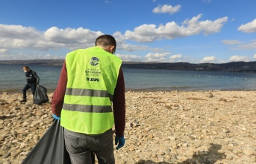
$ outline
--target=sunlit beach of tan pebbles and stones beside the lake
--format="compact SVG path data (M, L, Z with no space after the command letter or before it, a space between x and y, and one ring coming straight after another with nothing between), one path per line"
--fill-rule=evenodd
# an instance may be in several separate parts
M50 102L0 94L0 164L18 164L51 126ZM117 164L255 164L256 91L126 91ZM97 162L96 162L97 163Z

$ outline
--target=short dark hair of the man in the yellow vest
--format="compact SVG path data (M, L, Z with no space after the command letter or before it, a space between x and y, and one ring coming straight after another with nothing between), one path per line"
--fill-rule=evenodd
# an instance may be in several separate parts
M95 45L101 45L103 47L107 47L109 45L115 46L113 49L113 53L115 53L116 51L116 39L113 36L107 34L99 36L95 41Z

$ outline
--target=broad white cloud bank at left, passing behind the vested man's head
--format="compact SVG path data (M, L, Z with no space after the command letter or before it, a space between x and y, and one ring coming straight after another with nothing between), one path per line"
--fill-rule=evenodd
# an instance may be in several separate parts
M50 27L45 32L40 32L34 27L0 24L0 53L16 50L47 51L66 49L69 51L78 48L86 48L93 46L96 37L102 34L103 33L100 31L92 31L81 27L78 29ZM160 48L146 45L131 45L127 43L125 36L118 31L114 33L113 36L116 38L117 50L125 50L128 52L135 50L163 51ZM33 56L32 53L31 56ZM5 59L5 57L2 56L0 59Z

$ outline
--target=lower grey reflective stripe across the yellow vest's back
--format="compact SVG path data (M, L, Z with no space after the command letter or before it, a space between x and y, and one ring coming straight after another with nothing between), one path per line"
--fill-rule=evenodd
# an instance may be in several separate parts
M67 111L81 111L81 112L93 112L93 113L107 113L112 112L111 106L97 106L97 105L75 105L75 104L63 104L63 109Z

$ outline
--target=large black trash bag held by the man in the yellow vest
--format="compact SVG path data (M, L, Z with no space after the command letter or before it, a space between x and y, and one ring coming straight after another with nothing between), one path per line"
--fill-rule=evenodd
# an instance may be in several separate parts
M63 127L55 119L51 127L43 134L22 164L71 164L66 151Z

